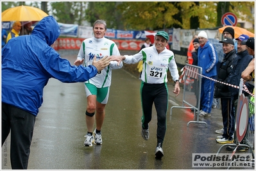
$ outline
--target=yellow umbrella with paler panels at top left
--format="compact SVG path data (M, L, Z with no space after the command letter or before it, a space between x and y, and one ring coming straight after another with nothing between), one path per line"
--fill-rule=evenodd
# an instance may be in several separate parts
M16 6L2 12L1 21L38 21L48 16L47 13L32 6Z

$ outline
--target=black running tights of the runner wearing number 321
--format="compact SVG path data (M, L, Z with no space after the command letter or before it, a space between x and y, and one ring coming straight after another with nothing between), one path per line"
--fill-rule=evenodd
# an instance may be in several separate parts
M166 113L168 109L168 88L166 83L141 84L142 127L148 129L152 118L153 103L157 111L157 144L164 142L166 134Z

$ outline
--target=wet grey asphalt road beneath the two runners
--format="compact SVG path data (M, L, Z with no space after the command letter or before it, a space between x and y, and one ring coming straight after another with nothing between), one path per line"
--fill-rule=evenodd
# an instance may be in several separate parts
M76 56L64 56L73 63ZM216 129L221 129L221 111L212 109L212 117L194 120L182 105L183 91L178 97L171 92L174 83L168 83L169 110L167 131L163 143L164 157L155 159L157 145L157 115L149 123L150 137L141 137L141 81L124 69L114 70L112 86L103 124L102 145L84 147L86 96L83 83L61 83L50 79L44 88L41 106L31 143L28 169L196 169L192 167L192 153L216 153L222 144L216 143ZM181 88L181 90L183 90ZM225 151L227 152L227 151ZM10 167L10 137L2 147L2 169ZM219 168L206 168L219 169Z

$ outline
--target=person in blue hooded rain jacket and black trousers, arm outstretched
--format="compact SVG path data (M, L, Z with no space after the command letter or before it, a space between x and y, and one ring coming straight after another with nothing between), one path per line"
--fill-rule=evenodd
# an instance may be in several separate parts
M71 66L51 47L59 35L58 22L47 16L30 36L12 38L2 49L2 147L11 132L12 169L28 167L35 120L49 79L87 81L110 63L109 58L95 57L88 67Z

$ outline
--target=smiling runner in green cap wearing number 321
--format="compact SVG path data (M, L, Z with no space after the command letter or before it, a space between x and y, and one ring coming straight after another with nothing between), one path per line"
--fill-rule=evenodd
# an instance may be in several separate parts
M152 118L152 106L155 104L157 110L157 147L155 158L162 158L164 151L162 144L166 134L166 112L168 106L167 70L171 72L175 80L173 93L180 94L179 75L172 51L166 48L169 35L166 31L158 31L155 35L154 45L142 49L137 54L128 56L110 56L112 60L132 64L141 60L145 63L141 77L141 102L142 102L142 130L144 140L149 138L149 122Z

